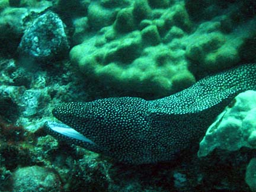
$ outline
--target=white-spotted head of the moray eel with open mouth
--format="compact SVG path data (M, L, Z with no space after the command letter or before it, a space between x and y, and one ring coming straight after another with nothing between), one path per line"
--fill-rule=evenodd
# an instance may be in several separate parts
M138 146L142 146L148 133L147 104L142 98L133 97L66 103L52 112L61 123L47 121L44 127L57 139L117 161L132 162L141 154Z

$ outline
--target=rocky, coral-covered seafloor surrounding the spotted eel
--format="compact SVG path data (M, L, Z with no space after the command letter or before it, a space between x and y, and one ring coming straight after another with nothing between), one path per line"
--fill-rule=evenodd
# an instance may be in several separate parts
M224 117L170 162L122 165L42 128L62 103L161 98L256 62L255 1L0 0L0 31L0 191L256 190L251 92L226 109L235 132Z

